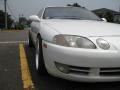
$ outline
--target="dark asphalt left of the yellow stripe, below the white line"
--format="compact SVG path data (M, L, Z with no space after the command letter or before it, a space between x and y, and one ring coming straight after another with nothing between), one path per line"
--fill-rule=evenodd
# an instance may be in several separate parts
M16 44L0 44L0 90L23 90Z

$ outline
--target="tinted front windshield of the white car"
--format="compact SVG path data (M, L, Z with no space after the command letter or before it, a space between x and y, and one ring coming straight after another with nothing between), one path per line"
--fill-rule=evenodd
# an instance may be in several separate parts
M48 7L45 9L44 19L79 19L101 20L91 11L81 7Z

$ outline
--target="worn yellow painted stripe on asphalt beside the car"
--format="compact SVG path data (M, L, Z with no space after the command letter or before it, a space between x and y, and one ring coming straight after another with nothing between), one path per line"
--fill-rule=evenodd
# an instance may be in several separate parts
M21 64L23 88L24 90L34 90L35 88L31 79L23 44L19 44L19 50L20 50L20 62L21 62L20 64Z

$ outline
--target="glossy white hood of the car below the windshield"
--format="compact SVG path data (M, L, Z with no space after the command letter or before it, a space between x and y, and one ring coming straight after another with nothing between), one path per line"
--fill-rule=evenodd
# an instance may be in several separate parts
M52 27L60 34L79 36L118 36L120 25L94 20L44 20L44 24Z

